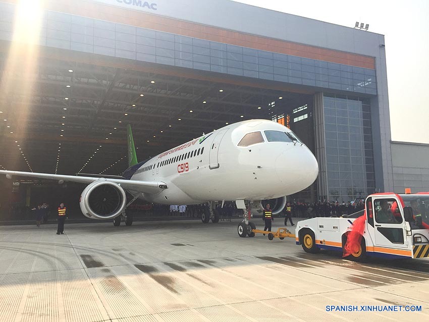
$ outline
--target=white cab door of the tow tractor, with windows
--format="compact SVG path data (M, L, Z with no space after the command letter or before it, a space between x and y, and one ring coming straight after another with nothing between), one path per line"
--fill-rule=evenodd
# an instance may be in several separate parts
M394 198L373 200L375 245L388 248L407 248L405 221Z

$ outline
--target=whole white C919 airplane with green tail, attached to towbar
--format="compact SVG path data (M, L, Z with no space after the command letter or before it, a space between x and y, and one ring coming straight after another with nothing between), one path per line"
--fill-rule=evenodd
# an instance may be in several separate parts
M122 219L132 224L125 209L137 198L163 204L208 202L201 220L219 221L213 202L267 199L280 212L291 195L310 186L318 166L313 153L287 127L267 120L249 120L228 125L138 163L131 127L128 125L129 168L121 176L65 176L45 173L0 171L0 174L87 183L80 208L91 219ZM133 198L127 203L125 191ZM244 235L250 232L245 212ZM239 226L240 234L240 226ZM241 236L242 234L240 234ZM244 236L242 236L244 237Z

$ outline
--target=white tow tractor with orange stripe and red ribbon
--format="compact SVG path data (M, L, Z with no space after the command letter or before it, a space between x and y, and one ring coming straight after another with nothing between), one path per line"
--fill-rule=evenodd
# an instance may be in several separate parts
M350 257L429 257L429 226L418 215L429 215L429 192L416 194L376 193L365 200L365 209L346 218L312 218L297 223L295 241L304 251L344 251L354 224L362 238ZM358 222L355 221L361 217Z

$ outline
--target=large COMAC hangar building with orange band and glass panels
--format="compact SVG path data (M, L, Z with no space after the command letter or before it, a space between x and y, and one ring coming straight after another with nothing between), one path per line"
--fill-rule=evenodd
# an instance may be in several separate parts
M295 198L394 189L383 35L228 0L34 3L0 2L3 169L118 175L128 123L143 159L263 118L317 157Z

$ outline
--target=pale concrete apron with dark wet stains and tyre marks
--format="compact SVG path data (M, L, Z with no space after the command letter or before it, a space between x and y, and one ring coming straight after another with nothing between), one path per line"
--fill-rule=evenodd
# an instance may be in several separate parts
M292 238L240 238L238 223L0 226L0 321L429 320L428 260L307 254Z

